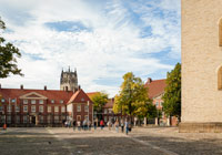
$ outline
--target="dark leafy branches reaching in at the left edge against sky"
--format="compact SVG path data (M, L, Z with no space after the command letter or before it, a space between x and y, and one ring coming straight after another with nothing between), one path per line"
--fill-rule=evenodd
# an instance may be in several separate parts
M6 24L0 18L0 30L6 30ZM10 73L23 75L21 70L17 66L17 59L20 58L21 53L19 49L12 43L6 42L6 40L0 35L0 78L7 78Z

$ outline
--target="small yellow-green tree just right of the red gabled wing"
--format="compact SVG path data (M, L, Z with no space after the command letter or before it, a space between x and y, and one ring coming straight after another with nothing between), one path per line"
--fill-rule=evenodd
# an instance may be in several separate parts
M104 92L98 92L93 96L91 96L93 102L94 112L97 112L97 116L101 118L102 107L108 103L108 94Z

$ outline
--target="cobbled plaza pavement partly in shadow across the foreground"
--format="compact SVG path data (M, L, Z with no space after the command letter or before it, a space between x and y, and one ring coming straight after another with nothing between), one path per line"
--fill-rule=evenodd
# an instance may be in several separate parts
M0 130L0 155L214 155L222 154L220 133L178 133L178 127L74 131L62 127Z

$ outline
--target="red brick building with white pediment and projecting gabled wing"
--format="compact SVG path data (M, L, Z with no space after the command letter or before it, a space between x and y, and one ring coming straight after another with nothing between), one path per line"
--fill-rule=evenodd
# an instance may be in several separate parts
M60 126L65 120L83 121L87 113L93 113L91 100L80 87L73 92L47 90L47 86L26 90L21 85L20 89L0 87L0 124L6 122L10 126ZM73 105L71 111L70 105Z

